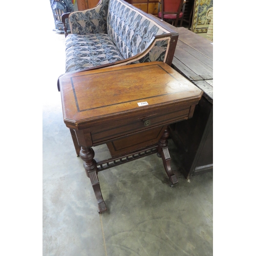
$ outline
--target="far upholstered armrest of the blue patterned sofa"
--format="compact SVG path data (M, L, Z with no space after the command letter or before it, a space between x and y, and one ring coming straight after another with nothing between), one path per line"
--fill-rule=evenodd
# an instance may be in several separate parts
M109 0L100 0L92 9L71 12L69 24L72 34L106 33Z

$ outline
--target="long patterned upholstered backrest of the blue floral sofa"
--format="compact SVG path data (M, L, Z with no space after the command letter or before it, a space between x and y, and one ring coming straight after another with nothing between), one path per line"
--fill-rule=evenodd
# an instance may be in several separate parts
M145 50L156 35L169 33L123 0L109 0L107 31L125 59Z

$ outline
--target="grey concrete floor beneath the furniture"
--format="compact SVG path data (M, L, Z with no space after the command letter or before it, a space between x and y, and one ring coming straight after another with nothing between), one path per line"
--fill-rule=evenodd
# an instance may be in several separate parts
M53 47L45 54L47 84L43 98L43 255L146 256L213 255L212 173L188 182L175 162L179 183L169 186L156 155L99 173L108 211L99 215L83 161L76 156L63 122L57 78L65 72L65 36L48 32ZM94 148L96 160L108 156L105 145Z

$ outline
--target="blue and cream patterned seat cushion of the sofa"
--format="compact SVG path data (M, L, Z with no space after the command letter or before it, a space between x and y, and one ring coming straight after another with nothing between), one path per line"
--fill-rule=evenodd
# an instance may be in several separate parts
M66 72L123 60L108 34L70 34L66 38Z

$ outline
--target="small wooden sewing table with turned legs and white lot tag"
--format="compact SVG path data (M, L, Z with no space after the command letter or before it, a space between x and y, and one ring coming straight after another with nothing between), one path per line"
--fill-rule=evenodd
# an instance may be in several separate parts
M106 210L99 171L157 153L171 184L168 124L191 118L202 91L164 62L146 62L66 74L59 78L63 117L84 161L98 202ZM94 160L107 144L111 159Z

